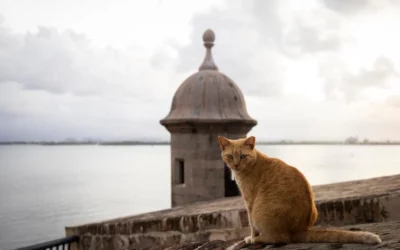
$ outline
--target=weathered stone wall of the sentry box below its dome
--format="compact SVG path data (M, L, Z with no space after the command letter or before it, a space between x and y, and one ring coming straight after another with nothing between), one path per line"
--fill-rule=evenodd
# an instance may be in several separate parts
M222 123L222 122L221 122ZM169 126L171 132L171 205L172 207L223 198L224 162L218 135L244 138L248 125L186 124ZM196 143L193 143L196 142ZM184 162L184 183L175 183L176 160Z

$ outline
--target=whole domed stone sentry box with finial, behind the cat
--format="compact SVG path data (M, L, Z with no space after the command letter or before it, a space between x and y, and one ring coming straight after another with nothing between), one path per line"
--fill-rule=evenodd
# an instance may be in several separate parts
M206 56L199 71L180 85L160 121L171 133L172 207L239 195L217 137L243 138L257 124L239 87L214 63L214 32L206 30L203 41Z

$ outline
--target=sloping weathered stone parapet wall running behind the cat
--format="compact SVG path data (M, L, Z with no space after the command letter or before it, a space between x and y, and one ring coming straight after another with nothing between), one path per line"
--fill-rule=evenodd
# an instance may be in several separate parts
M318 225L400 220L400 175L314 186ZM199 202L154 213L67 227L79 249L120 250L238 239L248 234L241 197Z

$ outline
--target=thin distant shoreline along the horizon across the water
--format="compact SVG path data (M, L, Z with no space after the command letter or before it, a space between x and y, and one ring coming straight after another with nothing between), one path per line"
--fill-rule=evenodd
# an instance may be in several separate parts
M340 141L261 141L259 145L400 145L400 142L340 142ZM109 141L109 142L91 142L91 141L61 141L61 142L31 142L31 141L0 141L0 146L7 145L41 145L41 146L85 146L85 145L99 145L99 146L142 146L142 145L170 145L170 142L146 142L146 141Z

